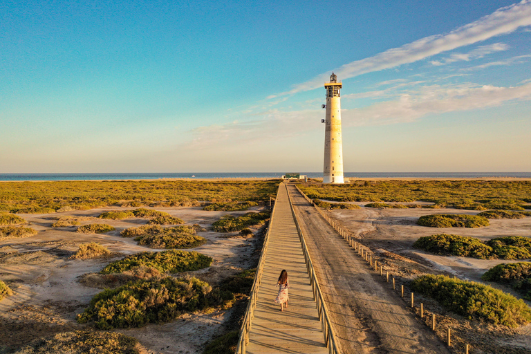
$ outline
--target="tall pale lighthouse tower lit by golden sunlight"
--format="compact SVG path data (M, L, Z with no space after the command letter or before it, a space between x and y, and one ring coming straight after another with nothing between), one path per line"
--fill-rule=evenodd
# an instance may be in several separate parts
M344 183L343 180L343 140L341 137L341 82L337 75L330 75L326 88L326 118L324 131L324 172L323 183Z

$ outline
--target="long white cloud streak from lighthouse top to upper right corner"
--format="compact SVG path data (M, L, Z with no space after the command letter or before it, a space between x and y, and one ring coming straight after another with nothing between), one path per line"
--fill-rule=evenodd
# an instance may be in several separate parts
M511 6L500 8L490 15L478 19L465 26L456 28L449 33L434 35L404 44L399 48L386 50L382 53L361 60L356 60L335 68L333 71L342 80L364 73L394 68L403 64L417 62L439 53L468 46L492 37L505 35L514 30L531 26L531 1L523 0ZM320 88L328 79L329 72L317 75L312 80L295 85L290 91L270 95L268 98L280 95L290 95L301 91Z

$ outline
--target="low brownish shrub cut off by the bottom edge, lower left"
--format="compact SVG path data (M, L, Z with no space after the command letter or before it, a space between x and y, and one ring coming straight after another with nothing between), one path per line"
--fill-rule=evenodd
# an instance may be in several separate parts
M15 354L140 354L138 340L121 333L91 332L76 330L75 332L57 333L53 337L38 339L17 351Z

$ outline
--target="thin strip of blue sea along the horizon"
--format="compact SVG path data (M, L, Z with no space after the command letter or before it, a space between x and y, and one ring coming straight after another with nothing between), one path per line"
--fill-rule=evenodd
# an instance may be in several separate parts
M288 171L292 173L292 171ZM299 172L297 172L299 173ZM0 174L0 180L160 180L169 178L281 178L286 172L187 172L120 174ZM308 178L322 178L322 172L300 172ZM531 172L348 172L345 178L531 178Z

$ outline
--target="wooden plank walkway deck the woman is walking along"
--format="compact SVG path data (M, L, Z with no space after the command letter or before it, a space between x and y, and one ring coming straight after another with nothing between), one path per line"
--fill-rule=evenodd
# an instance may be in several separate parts
M328 353L286 185L280 185L275 203L247 353ZM290 279L290 302L281 312L274 298L283 269Z

